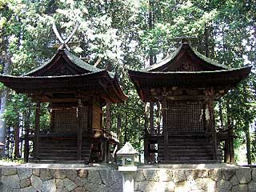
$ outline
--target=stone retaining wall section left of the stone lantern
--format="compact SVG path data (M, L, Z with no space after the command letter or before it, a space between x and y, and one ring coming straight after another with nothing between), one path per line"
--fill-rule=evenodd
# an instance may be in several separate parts
M122 175L111 168L1 167L1 192L122 191Z

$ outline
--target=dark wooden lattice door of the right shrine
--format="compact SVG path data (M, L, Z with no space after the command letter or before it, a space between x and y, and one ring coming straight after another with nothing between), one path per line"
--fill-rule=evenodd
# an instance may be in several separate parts
M171 131L202 132L202 103L167 103L167 127Z

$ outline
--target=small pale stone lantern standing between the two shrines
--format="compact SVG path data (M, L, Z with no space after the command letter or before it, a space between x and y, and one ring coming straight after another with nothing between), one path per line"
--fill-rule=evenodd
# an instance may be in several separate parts
M117 155L122 157L122 166L118 166L118 170L122 172L122 191L134 192L134 172L137 171L134 158L138 152L134 150L130 142L126 142L122 149L118 150Z

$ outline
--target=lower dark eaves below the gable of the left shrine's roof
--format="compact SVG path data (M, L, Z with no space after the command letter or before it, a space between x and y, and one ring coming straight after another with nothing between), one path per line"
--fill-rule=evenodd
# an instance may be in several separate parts
M42 97L47 94L90 93L97 94L106 102L124 102L126 94L119 86L118 78L110 77L106 70L90 74L75 74L62 76L12 76L0 75L0 82L17 93L27 94L30 97L41 93ZM46 101L47 102L47 101Z

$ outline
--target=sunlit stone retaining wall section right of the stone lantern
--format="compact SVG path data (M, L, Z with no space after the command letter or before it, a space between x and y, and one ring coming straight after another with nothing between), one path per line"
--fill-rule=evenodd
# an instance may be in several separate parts
M139 169L134 181L137 192L256 192L256 169Z

